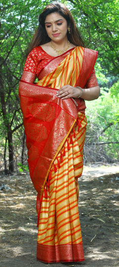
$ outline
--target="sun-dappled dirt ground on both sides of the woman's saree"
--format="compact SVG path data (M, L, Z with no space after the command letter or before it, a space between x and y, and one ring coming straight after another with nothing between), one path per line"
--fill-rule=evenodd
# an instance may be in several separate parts
M36 260L36 192L29 175L0 176L0 267L119 267L119 166L84 166L79 214L85 261Z

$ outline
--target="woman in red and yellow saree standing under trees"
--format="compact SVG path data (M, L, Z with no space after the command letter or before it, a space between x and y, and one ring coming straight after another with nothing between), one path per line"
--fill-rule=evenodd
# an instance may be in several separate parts
M97 51L83 47L69 10L50 3L39 16L29 52L19 97L29 171L38 193L37 259L84 261L77 180L83 171L84 99L100 93Z

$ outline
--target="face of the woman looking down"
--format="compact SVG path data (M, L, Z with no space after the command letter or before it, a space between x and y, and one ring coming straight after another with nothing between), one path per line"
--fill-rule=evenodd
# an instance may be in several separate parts
M67 21L58 12L46 16L45 27L48 36L54 42L60 42L67 39Z

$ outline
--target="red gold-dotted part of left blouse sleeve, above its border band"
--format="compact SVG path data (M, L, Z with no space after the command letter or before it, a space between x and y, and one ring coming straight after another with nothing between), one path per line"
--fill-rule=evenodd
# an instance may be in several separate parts
M24 70L23 71L28 71L36 74L38 67L38 50L37 48L34 48L28 55Z

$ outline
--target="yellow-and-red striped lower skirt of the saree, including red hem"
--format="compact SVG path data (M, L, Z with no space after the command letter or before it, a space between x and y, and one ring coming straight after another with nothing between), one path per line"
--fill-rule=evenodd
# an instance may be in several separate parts
M83 171L82 148L86 117L81 113L78 113L78 116L81 128L78 131L77 124L74 125L75 136L72 130L54 161L42 196L37 258L43 262L84 260L78 213L77 178Z

